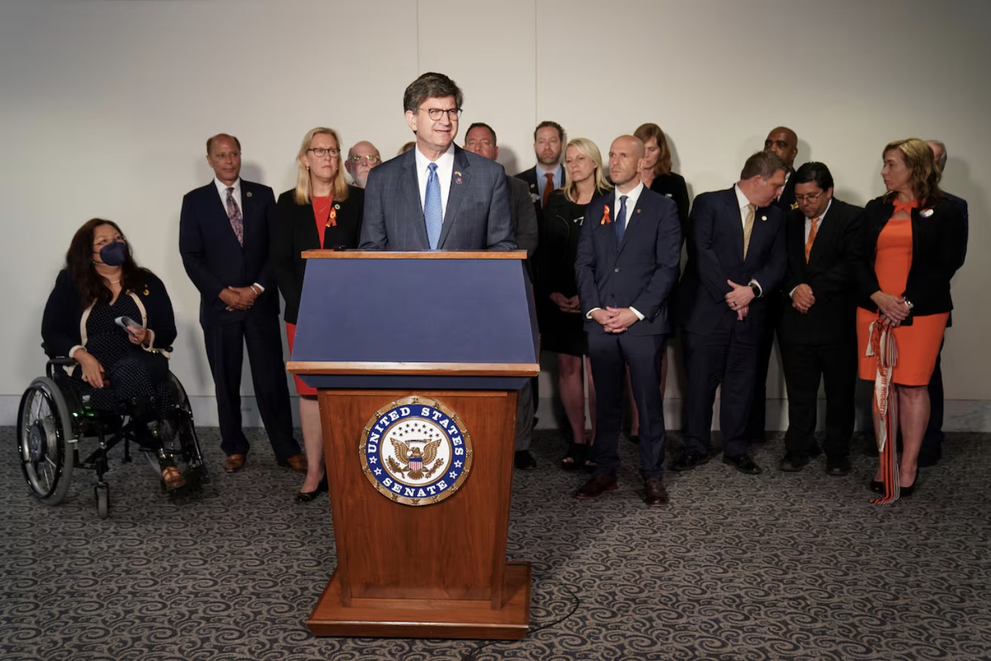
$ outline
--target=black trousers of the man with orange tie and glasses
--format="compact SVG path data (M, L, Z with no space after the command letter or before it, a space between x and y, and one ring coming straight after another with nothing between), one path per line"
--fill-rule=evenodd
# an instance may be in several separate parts
M826 345L781 343L781 360L788 386L787 452L808 456L815 443L820 377L826 388L826 457L850 452L853 435L854 387L857 382L855 338Z

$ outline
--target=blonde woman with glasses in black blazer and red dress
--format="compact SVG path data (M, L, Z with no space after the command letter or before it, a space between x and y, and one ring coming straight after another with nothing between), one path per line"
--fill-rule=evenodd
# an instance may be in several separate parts
M289 351L295 338L306 271L306 261L300 253L321 248L357 248L364 201L362 189L349 186L344 180L341 140L333 129L317 127L307 131L296 161L299 167L296 187L278 196L269 219L272 233L269 268L285 299L283 318ZM298 377L295 383L307 459L306 480L295 499L309 502L327 491L323 433L316 390Z

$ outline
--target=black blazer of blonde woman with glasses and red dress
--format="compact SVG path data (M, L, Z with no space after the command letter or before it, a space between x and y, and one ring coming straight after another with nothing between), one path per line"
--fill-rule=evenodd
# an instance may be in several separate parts
M282 318L290 324L296 323L299 315L299 298L303 290L303 275L306 273L306 260L300 254L304 250L320 250L320 235L313 218L313 205L297 204L294 193L295 188L290 188L280 194L278 202L270 208L269 213L272 233L269 271L285 299ZM337 225L324 228L324 248L358 247L364 203L365 191L357 186L348 186L347 199L334 200Z

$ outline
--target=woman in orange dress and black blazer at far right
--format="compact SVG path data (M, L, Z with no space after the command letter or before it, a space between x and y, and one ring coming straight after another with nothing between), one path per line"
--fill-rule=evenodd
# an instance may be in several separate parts
M862 217L857 345L860 378L875 382L880 462L871 489L882 494L877 502L891 502L915 489L930 415L927 386L953 308L949 280L966 250L966 210L939 190L927 143L891 143L883 158L888 192L868 202ZM903 452L896 466L899 427Z

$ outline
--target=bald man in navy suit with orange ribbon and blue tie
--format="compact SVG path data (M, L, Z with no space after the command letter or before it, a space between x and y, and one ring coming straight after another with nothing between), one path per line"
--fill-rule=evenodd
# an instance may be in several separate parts
M589 333L596 382L596 473L576 492L595 498L616 488L622 393L629 367L640 411L640 476L644 501L667 503L661 356L670 333L668 294L678 280L681 223L675 203L640 180L643 143L620 136L609 148L613 193L586 207L575 277Z

